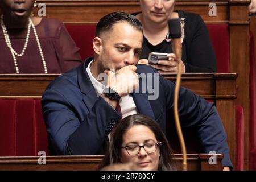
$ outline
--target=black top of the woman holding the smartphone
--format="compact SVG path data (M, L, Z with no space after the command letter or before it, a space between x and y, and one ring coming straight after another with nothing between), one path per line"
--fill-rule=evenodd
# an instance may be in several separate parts
M133 13L137 15L138 13ZM182 43L182 61L188 72L217 72L216 56L207 27L201 16L195 13L177 11L184 18L185 38ZM172 53L171 42L164 39L153 46L143 36L141 59L148 59L150 52Z

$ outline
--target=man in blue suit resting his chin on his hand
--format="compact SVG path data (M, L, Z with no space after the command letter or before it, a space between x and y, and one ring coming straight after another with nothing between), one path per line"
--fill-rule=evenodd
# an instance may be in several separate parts
M57 154L104 154L119 119L135 113L151 117L166 133L175 83L149 65L137 65L142 40L142 26L134 16L106 15L97 24L93 59L48 86L42 97L43 115ZM196 126L204 152L224 153L222 163L232 167L226 134L213 104L180 88L179 116L182 126Z

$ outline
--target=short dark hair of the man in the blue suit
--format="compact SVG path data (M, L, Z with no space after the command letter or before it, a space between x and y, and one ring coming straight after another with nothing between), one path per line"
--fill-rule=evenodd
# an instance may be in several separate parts
M142 31L142 24L134 15L125 12L113 12L100 19L96 26L96 36L111 30L114 24L119 22L127 22L135 29Z

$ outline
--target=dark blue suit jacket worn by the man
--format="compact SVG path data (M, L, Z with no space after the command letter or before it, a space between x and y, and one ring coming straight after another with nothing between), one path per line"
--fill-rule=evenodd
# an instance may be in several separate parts
M158 73L148 65L137 65L136 72ZM154 119L166 133L166 117L172 114L175 83L160 75L157 80L157 99L148 100L150 90L132 96L138 112ZM142 84L141 81L140 88ZM52 81L43 94L42 107L49 142L60 155L104 154L108 134L121 118L108 102L97 97L86 72L86 61ZM204 152L224 153L222 163L232 167L224 127L213 104L189 89L180 88L179 116L181 126L196 126Z

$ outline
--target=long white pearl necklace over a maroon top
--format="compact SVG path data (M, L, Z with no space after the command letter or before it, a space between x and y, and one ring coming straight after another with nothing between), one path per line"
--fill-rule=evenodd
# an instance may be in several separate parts
M13 59L14 59L14 66L15 66L15 69L16 69L16 73L19 73L19 67L18 67L16 56L21 57L21 56L24 55L24 53L25 53L25 51L27 49L28 39L30 38L30 29L31 29L31 27L32 27L32 29L34 31L34 35L35 35L35 38L36 38L36 43L38 44L38 49L39 49L39 52L40 52L40 56L42 58L43 67L44 67L44 73L48 73L47 72L46 61L44 60L43 51L42 51L42 48L41 48L41 45L40 45L40 42L39 42L39 39L38 39L38 34L36 33L35 25L32 22L31 18L28 19L27 36L26 36L24 47L23 47L21 53L17 53L13 49L13 46L11 46L11 40L9 38L9 35L8 35L7 30L6 30L5 24L3 23L3 15L1 16L0 23L1 23L2 30L3 30L3 35L5 36L5 42L7 44L7 47L9 47L9 49L11 51L11 55L13 56Z

